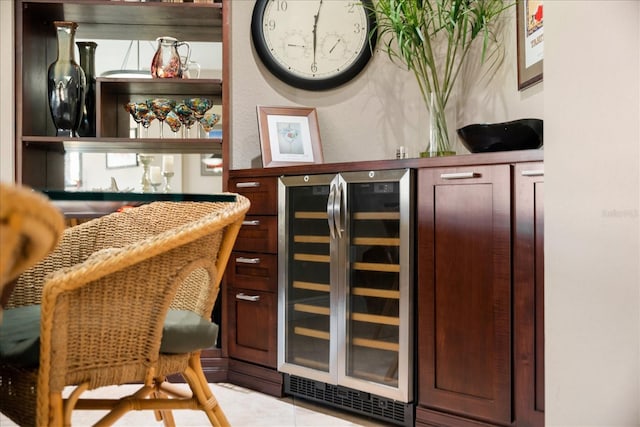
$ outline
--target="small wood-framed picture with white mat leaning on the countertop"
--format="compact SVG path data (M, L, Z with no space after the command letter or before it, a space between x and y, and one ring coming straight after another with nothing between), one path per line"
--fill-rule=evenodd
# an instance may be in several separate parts
M315 108L258 106L264 167L322 163Z

